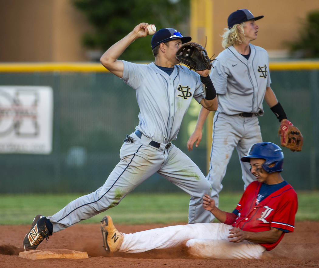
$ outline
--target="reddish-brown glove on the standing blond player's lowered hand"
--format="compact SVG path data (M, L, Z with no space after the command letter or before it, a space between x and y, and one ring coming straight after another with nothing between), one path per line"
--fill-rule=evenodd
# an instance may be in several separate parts
M278 134L280 135L281 146L287 147L293 152L301 151L303 143L302 134L290 121L281 121Z

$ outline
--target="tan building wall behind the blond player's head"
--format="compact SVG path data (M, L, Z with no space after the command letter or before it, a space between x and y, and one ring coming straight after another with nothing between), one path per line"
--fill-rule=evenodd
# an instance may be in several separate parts
M197 18L201 21L197 37L197 42L205 43L205 35L213 32L212 44L207 44L207 50L211 53L219 54L221 46L221 36L224 28L227 27L227 18L230 13L237 9L249 9L254 16L264 15L264 18L257 21L259 26L258 37L252 42L256 46L265 48L271 58L280 58L287 55L286 41L293 41L299 37L302 30L301 22L305 21L308 12L319 10L318 0L190 0L200 8L197 11ZM207 8L211 12L207 12ZM211 21L213 27L210 29L205 22ZM206 31L204 31L204 30ZM196 35L195 35L196 36ZM196 37L195 37L196 38ZM210 54L210 53L209 53Z

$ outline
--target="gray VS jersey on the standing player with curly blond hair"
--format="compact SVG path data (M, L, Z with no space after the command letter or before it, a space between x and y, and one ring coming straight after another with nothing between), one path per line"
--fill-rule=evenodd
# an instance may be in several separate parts
M241 112L263 114L263 98L271 84L266 50L249 44L247 60L231 46L223 50L210 76L218 95L218 112L228 115Z

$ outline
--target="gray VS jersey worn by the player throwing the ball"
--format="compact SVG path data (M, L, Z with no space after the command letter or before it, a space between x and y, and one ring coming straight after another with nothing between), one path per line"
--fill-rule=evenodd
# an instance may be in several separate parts
M168 143L176 139L193 98L205 98L200 76L176 65L169 76L152 62L148 65L122 61L123 81L136 90L140 130L150 139Z

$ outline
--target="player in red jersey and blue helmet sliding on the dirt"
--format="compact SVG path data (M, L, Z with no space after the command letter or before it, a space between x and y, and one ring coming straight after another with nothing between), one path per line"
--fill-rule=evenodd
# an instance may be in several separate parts
M248 185L232 213L220 210L205 194L203 207L221 223L169 226L122 234L110 216L101 221L104 247L109 252L137 253L177 245L191 256L206 259L259 259L263 251L275 248L285 233L293 232L297 194L280 175L284 155L271 142L251 146L247 156L256 181Z

